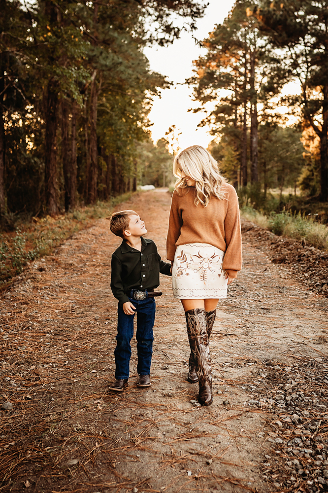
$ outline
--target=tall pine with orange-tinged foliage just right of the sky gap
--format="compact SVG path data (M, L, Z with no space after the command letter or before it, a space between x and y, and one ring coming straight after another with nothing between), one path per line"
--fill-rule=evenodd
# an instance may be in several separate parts
M234 153L241 166L240 184L247 185L247 126L250 121L251 181L258 182L258 102L262 105L277 92L265 75L273 62L266 36L258 29L258 21L247 15L251 5L237 1L222 25L217 25L203 41L208 52L196 62L196 76L189 83L196 85L195 98L202 104L217 102L202 124L210 124L212 134L234 135ZM228 95L221 96L222 89ZM202 108L199 108L202 109ZM233 128L234 130L229 131ZM237 181L236 179L234 180Z

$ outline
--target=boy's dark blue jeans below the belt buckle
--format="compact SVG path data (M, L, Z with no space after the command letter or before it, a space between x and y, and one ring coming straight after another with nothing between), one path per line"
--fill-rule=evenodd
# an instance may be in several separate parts
M136 308L135 312L137 314L137 330L135 334L138 354L137 372L139 375L149 375L153 354L153 327L156 303L154 298L146 298L142 301L136 301L132 298L129 299ZM130 341L133 337L134 314L126 315L120 306L118 306L117 313L117 342L114 351L115 378L121 380L129 378L130 373Z

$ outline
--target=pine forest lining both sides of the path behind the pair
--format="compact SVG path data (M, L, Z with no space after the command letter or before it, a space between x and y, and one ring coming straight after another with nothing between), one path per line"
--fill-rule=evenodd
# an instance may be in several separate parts
M54 217L173 183L172 127L148 114L171 81L146 46L197 36L197 0L0 0L0 216ZM328 5L237 0L200 42L193 88L209 150L241 206L327 222ZM276 190L272 195L270 191ZM289 190L286 195L285 190ZM297 193L296 193L297 191ZM320 206L318 206L320 204Z

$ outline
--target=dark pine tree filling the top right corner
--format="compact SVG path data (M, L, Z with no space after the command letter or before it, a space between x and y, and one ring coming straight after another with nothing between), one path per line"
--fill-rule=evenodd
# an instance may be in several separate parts
M328 201L328 2L313 0L263 0L252 7L262 32L278 48L290 80L301 86L300 96L290 96L305 125L320 139L320 200Z

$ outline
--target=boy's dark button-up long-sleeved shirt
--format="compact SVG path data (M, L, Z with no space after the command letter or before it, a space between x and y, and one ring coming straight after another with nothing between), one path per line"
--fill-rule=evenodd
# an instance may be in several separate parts
M161 260L153 240L141 237L141 251L124 240L112 254L110 287L120 305L130 301L126 295L131 289L150 291L160 285L160 272L171 276L171 264Z

